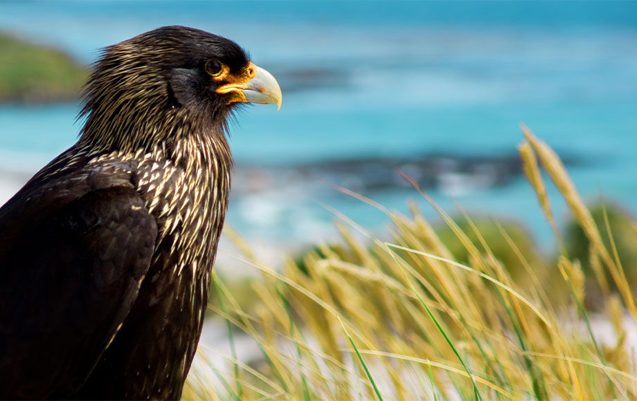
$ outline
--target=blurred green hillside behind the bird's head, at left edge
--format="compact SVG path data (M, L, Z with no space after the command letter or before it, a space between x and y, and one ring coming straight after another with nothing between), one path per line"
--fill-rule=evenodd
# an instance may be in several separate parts
M0 33L0 102L75 100L87 75L60 50Z

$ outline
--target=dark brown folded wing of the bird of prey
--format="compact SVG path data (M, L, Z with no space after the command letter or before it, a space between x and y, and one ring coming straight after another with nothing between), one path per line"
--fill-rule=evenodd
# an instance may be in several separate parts
M84 167L0 209L0 398L72 394L122 326L157 236L132 174Z

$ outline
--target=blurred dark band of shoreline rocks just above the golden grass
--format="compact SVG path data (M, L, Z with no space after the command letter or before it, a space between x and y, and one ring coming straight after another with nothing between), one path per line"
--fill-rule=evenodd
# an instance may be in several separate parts
M566 164L574 158L564 158ZM339 185L359 194L409 187L397 171L413 178L423 189L462 196L480 189L508 185L522 174L517 153L481 156L431 153L411 158L352 158L294 165L237 165L233 196L265 192L273 187L303 188L303 192Z

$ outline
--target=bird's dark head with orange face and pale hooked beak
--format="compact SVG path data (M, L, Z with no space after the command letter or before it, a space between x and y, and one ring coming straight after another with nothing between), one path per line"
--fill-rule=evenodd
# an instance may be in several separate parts
M274 77L235 42L167 26L102 50L84 91L80 142L109 150L219 135L238 104L276 104Z

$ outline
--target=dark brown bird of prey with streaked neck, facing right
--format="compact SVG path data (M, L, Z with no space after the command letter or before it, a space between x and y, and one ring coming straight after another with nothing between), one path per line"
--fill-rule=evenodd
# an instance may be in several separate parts
M276 104L234 41L165 26L102 49L78 141L0 207L0 398L178 399L206 310L228 121Z

